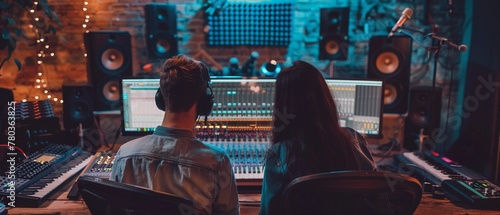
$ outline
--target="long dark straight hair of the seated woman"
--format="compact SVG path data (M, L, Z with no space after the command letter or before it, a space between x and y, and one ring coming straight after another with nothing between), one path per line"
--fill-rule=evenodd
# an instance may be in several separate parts
M353 140L340 127L337 106L316 67L295 61L278 75L275 90L272 144L288 145L287 162L315 172L358 169Z

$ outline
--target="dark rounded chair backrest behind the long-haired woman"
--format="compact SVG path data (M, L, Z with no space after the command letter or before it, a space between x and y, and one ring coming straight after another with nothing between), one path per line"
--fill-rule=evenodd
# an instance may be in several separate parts
M337 171L302 176L283 193L293 214L413 214L422 185L391 172Z

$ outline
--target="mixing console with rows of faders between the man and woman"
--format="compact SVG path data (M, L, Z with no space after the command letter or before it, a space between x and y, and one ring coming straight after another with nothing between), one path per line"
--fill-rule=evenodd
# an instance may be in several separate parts
M210 118L207 124L199 122L195 130L201 141L227 152L239 187L260 186L271 141L271 117Z

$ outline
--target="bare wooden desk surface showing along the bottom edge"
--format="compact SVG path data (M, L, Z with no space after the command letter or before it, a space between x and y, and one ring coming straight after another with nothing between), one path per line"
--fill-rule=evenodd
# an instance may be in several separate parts
M60 195L48 200L39 208L11 208L9 215L36 214L36 215L83 215L90 214L83 200L72 201L66 198L70 186ZM256 215L259 213L259 194L240 194L240 213L242 215ZM467 205L454 204L446 199L435 199L430 194L424 194L420 206L415 214L422 215L500 215L500 211L471 209Z

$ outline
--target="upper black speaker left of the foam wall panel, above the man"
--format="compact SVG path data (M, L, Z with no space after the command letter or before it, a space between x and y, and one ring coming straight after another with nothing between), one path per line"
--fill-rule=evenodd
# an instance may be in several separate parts
M151 59L168 59L177 55L177 10L166 3L144 6L146 17L146 45Z

